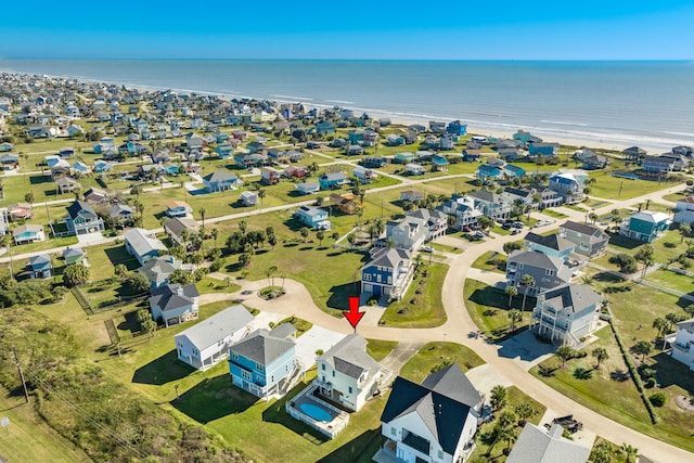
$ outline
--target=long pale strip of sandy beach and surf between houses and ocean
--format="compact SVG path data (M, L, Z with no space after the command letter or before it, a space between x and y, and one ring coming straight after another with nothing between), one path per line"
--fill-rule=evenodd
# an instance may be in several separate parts
M244 95L243 92L233 92L233 91L210 91L210 90L193 90L193 89L183 89L183 88L170 88L170 87L160 87L145 83L128 83L128 82L119 82L107 79L97 79L89 78L85 76L70 76L70 75L55 75L55 74L43 74L43 73L27 73L20 72L13 69L2 68L0 73L9 73L15 75L24 75L24 76L41 76L48 77L52 79L64 79L64 80L77 80L89 83L105 83L113 86L125 86L127 88L142 91L142 92L153 92L153 91L165 91L171 90L178 93L196 93L203 95L213 95L221 99L249 99L249 100L258 100L258 101L272 101L277 103L300 103L306 107L317 107L317 108L332 108L335 106L346 107L355 113L367 113L373 119L378 118L389 118L394 124L401 125L412 125L419 124L427 126L429 120L439 120L449 123L452 120L457 120L454 117L446 117L440 115L425 115L425 114L413 114L408 113L407 110L402 111L384 111L378 108L367 108L359 107L355 105L352 102L348 101L338 101L331 100L330 103L319 103L313 101L311 98L299 98L299 97L291 97L291 95L270 95L270 97L253 97L253 95ZM616 133L616 132L590 132L590 131L577 131L569 130L567 128L562 129L562 126L573 127L570 124L566 123L551 123L555 124L556 128L550 127L535 127L527 126L523 124L499 124L499 123L485 123L480 120L472 120L465 119L462 117L458 117L463 124L467 124L467 132L478 136L486 137L494 137L494 138L504 138L511 139L513 133L517 130L525 130L534 136L540 137L545 142L555 142L563 145L576 146L580 147L592 147L597 150L611 150L611 151L622 151L630 146L639 146L644 149L647 154L660 154L664 152L669 152L673 146L678 145L692 145L694 141L690 140L680 140L674 138L654 138L654 137L645 137L645 136L629 136L626 133ZM568 132L568 133L562 133ZM667 132L666 132L667 133ZM676 132L672 132L673 134ZM682 137L684 134L682 133Z

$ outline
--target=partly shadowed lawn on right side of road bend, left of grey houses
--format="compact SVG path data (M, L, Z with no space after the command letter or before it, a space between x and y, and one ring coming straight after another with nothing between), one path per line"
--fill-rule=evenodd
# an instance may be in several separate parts
M509 318L509 296L496 287L488 286L477 280L465 280L463 290L465 307L473 321L485 336L499 339L511 334L511 319ZM523 307L523 293L519 293L511 301L511 308ZM530 313L535 307L535 298L528 297L523 320L516 322L516 330L527 326L530 322Z

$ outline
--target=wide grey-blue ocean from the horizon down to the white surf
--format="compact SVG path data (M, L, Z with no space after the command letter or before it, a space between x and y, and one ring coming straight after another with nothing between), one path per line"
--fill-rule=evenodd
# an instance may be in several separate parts
M483 133L694 144L693 62L0 60L0 69L461 119Z

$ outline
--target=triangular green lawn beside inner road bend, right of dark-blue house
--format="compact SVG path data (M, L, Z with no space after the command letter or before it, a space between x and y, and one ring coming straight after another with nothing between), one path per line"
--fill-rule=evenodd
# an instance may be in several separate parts
M444 324L447 317L441 287L447 272L448 266L442 263L423 267L402 300L388 305L380 324L397 327L434 327Z

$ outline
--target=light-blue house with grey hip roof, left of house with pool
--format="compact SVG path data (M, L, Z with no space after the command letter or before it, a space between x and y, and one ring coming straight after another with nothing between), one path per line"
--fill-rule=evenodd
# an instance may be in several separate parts
M298 380L296 330L283 323L257 330L229 348L229 373L234 386L265 400L285 395Z

